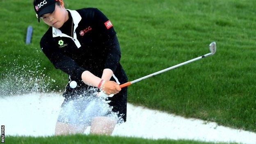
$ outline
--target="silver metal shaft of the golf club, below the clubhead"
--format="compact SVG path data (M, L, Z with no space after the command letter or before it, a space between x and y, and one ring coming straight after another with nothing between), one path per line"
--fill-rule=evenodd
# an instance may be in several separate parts
M188 64L188 63L190 63L190 62L194 62L194 61L199 60L199 59L201 59L201 58L208 57L208 56L210 56L210 55L212 55L212 53L208 53L208 54L206 54L206 55L202 55L202 56L200 56L200 57L191 59L191 60L189 60L189 61L187 61L187 62L183 62L183 63L181 63L181 64L177 64L177 65L175 65L175 66L171 66L171 67L169 67L169 68L167 68L167 69L163 69L163 70L161 70L161 71L152 73L152 74L150 74L150 75L146 75L146 76L144 76L144 77L142 77L142 78L139 78L139 79L137 79L137 80L131 81L131 82L130 82L130 85L133 84L133 83L135 83L135 82L139 82L139 81L141 81L141 80L144 80L144 79L146 79L146 78L149 78L149 77L151 77L151 76L158 75L158 74L160 74L160 73L163 73L163 72L165 72L165 71L169 71L169 70L171 70L171 69L175 69L175 68L177 68L177 67L179 67L179 66L183 66L183 65Z

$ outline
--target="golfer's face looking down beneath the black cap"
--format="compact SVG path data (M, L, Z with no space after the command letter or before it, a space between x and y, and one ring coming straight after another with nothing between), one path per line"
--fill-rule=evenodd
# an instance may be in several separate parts
M67 11L64 8L64 3L62 1L60 2L60 6L55 4L55 10L53 13L43 14L41 16L43 22L51 27L60 28L68 19Z

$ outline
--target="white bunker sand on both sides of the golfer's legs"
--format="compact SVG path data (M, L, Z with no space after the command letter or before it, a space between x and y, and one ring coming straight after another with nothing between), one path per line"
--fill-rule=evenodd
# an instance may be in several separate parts
M0 98L0 125L5 125L5 135L53 135L63 100L61 94ZM185 119L131 104L128 104L127 115L127 122L116 126L113 135L256 144L256 133L218 126L214 122ZM89 133L89 128L85 133Z

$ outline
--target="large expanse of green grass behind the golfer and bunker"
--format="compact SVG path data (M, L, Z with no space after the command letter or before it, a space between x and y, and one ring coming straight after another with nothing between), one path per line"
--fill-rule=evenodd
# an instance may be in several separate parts
M209 43L216 41L214 56L130 86L128 101L256 132L256 1L65 2L68 9L97 7L110 18L129 80L209 53ZM37 23L32 0L1 0L0 7L0 73L39 62L37 69L56 80L49 89L63 91L67 75L56 70L39 48L48 26ZM32 44L26 46L28 25L34 33Z

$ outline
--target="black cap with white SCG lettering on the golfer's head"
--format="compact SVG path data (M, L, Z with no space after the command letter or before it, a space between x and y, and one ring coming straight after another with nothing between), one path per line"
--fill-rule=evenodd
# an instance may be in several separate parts
M43 14L52 13L55 10L55 2L59 0L35 0L34 10L37 13L38 22Z

